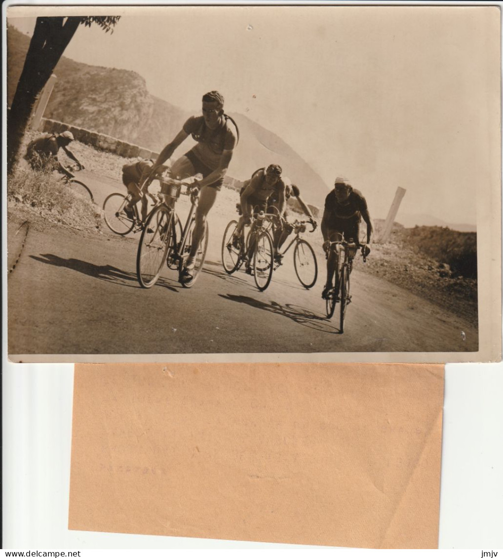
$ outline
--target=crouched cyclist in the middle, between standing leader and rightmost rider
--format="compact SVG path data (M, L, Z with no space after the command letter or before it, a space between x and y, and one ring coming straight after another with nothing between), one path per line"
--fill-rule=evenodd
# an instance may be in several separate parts
M234 233L234 238L232 243L235 247L239 247L239 242L241 239L242 231L245 225L251 223L251 216L253 210L266 211L267 210L267 200L270 198L271 194L275 195L277 199L278 209L280 214L285 210L285 182L281 179L282 169L280 165L271 164L262 169L256 170L251 179L246 180L241 191L241 211L242 215L239 218L236 233ZM253 242L250 242L249 250L253 249ZM246 272L251 273L250 266L250 253L247 254L248 262L246 266Z

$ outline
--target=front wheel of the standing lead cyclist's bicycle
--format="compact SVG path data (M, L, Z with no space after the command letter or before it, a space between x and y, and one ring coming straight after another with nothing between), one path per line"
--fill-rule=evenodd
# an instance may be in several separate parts
M148 216L136 255L136 275L143 288L155 285L173 239L173 211L159 205Z

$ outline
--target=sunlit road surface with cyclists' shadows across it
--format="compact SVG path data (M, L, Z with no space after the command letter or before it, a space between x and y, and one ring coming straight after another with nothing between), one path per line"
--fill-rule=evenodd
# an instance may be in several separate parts
M100 205L119 189L92 181ZM222 192L222 195L227 195ZM185 202L184 202L185 203ZM186 203L185 203L186 205ZM186 207L180 204L181 213ZM337 353L475 351L477 329L456 314L389 282L352 273L344 334L320 297L324 260L312 290L296 279L291 251L264 292L239 271L228 276L220 244L228 209L210 215L205 270L190 290L165 269L145 290L136 280L139 235L80 232L11 213L8 278L10 354Z

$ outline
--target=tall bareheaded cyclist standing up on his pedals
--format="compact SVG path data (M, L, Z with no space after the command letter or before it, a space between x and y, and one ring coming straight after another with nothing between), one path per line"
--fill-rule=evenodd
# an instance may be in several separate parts
M192 116L166 145L154 163L152 173L173 155L175 149L190 135L197 144L171 167L171 175L178 180L202 174L203 179L194 182L199 187L199 203L195 212L193 243L182 271L182 281L190 281L194 269L195 254L203 238L205 221L212 208L217 192L222 188L232 153L237 143L237 127L223 110L224 98L218 91L203 95L203 116Z

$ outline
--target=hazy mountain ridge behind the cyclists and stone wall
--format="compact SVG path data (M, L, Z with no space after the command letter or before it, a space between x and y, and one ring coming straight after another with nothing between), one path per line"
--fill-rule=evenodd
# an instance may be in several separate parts
M30 38L7 28L7 102L15 94ZM153 151L160 151L191 116L154 97L145 79L133 71L82 64L61 57L58 80L45 110L46 118L108 134ZM229 113L239 127L240 140L229 175L245 180L256 169L279 163L299 186L309 204L323 206L328 186L282 138L239 113ZM183 148L190 147L190 141Z

